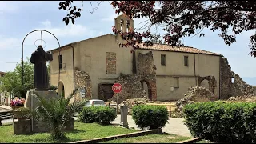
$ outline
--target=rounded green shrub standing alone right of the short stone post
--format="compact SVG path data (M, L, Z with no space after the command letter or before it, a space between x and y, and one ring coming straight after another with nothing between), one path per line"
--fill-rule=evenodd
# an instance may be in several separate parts
M168 111L165 106L138 105L134 106L132 118L140 128L157 129L166 126Z

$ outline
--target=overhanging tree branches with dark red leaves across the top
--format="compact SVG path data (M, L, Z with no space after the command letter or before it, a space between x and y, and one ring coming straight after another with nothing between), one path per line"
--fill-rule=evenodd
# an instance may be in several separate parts
M82 9L71 10L71 4L72 1L60 2L59 9L69 7L70 10L70 14L63 18L66 25L69 18L74 24L74 18L81 15ZM116 14L148 19L148 29L144 32L122 32L113 27L114 34L127 41L121 46L133 49L138 48L139 43L146 46L154 44L154 35L150 33L152 26L163 27L165 34L161 38L170 46L183 46L181 39L192 34L202 37L206 28L213 32L219 30L218 35L230 46L236 42L236 35L256 29L256 1L112 1L111 5ZM256 32L250 36L249 47L251 56L256 57Z

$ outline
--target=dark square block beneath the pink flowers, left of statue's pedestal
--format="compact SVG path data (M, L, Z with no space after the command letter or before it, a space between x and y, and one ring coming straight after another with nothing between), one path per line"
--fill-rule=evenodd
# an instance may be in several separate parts
M30 134L31 132L30 119L14 122L13 126L14 134Z

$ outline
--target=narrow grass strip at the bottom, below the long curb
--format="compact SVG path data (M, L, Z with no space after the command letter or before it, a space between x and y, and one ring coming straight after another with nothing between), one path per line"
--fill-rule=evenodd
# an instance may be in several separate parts
M174 143L184 141L190 137L183 137L176 134L150 134L138 137L120 138L101 143Z

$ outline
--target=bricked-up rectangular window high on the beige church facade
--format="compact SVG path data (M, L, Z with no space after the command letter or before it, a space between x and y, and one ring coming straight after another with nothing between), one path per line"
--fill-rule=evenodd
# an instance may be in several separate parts
M106 52L106 74L116 74L117 71L117 54L113 52Z

